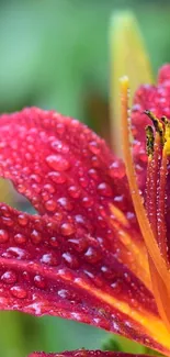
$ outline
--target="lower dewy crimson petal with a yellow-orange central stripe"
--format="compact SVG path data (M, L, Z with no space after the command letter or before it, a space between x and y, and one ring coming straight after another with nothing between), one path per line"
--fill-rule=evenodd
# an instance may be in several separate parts
M165 348L151 294L97 239L80 241L78 230L64 237L59 222L2 204L0 226L1 310L72 319Z

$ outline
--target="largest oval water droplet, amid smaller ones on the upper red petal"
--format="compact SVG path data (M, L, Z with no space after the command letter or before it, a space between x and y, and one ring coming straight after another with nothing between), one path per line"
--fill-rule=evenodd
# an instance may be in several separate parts
M70 168L69 161L61 155L49 155L46 157L46 163L57 171L65 171Z

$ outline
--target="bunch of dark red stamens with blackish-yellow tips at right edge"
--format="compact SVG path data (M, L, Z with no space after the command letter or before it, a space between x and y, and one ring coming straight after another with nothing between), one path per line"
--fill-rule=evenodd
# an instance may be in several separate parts
M161 120L157 119L150 111L145 113L151 119L155 130L156 138L154 145L154 153L148 153L148 168L147 168L147 214L148 219L159 244L161 254L168 264L167 257L167 227L166 227L166 182L167 182L167 155L170 153L170 124L166 116ZM152 142L154 131L146 129L147 143ZM151 134L150 134L151 133ZM149 144L148 144L149 145ZM159 159L160 157L160 159ZM161 160L161 164L159 161ZM160 171L160 175L159 175ZM158 202L157 202L158 198Z

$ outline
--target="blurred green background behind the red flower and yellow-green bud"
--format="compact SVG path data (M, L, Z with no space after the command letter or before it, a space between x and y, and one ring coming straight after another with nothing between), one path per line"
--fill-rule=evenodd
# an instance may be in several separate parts
M105 135L109 24L120 10L133 10L137 16L156 72L170 60L168 0L1 0L0 111L25 105L56 109ZM0 313L3 357L24 357L36 349L101 348L109 336L57 317ZM124 350L144 352L124 339L114 339Z

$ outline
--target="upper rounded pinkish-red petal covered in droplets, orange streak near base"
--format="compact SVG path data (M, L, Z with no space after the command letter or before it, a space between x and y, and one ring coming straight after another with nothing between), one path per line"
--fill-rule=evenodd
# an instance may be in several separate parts
M72 236L77 227L79 237L91 235L149 287L124 166L87 126L36 108L2 115L0 174L39 213L58 220L60 234Z

